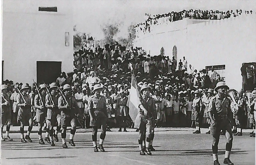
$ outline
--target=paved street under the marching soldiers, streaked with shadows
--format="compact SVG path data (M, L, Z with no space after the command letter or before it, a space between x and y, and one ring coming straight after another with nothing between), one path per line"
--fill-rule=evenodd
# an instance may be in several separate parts
M25 128L26 130L26 128ZM81 130L81 129L80 129ZM192 134L191 128L158 128L155 132L154 147L157 151L152 156L140 156L138 151L137 132L107 132L104 143L105 153L94 153L91 133L81 132L75 135L75 147L68 144L63 149L61 142L55 147L49 144L38 144L38 135L32 133L32 143L21 143L20 134L12 133L13 142L2 142L2 165L212 165L212 137L202 133ZM235 165L255 164L255 138L234 137L231 161ZM67 134L69 136L69 133ZM67 137L68 137L67 136ZM60 138L60 134L59 134ZM99 139L99 133L98 133ZM61 140L60 140L61 141ZM219 160L223 164L225 153L225 137L219 143Z

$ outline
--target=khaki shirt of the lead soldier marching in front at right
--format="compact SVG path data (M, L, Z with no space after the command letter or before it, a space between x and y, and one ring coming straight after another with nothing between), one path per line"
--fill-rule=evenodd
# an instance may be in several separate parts
M227 97L221 99L220 96L216 94L210 99L207 112L210 111L213 111L215 115L217 113L219 115L229 115L230 113L232 114L232 111L230 109L230 99L228 99Z

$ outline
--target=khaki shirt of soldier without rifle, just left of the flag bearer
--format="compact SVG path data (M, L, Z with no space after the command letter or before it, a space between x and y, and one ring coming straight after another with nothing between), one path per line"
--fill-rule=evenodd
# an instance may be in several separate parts
M102 111L106 114L107 107L106 107L106 99L104 96L100 96L99 98L96 94L89 97L88 101L88 111Z

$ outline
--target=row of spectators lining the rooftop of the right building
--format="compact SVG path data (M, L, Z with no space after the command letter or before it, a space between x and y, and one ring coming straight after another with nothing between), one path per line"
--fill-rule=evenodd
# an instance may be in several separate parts
M150 14L145 14L145 22L142 22L140 24L137 24L134 26L134 31L135 32L143 32L144 34L146 32L150 32L150 27L152 26L157 26L160 24L168 24L170 22L182 20L185 18L188 19L200 19L200 20L220 20L220 19L225 19L225 18L230 18L230 17L237 17L243 14L252 14L252 10L250 11L244 11L242 10L228 10L226 12L223 11L213 11L213 10L183 10L180 12L169 12L168 14L157 14L151 16Z

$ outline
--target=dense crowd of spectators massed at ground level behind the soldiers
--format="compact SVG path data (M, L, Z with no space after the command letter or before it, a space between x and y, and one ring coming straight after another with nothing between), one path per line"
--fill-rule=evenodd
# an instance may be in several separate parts
M62 72L56 83L60 88L66 83L70 84L72 95L80 109L85 112L88 97L93 94L93 86L104 86L106 90L103 90L102 95L107 98L109 127L132 127L128 112L120 113L120 109L128 109L126 103L130 91L131 66L138 85L147 84L152 88L151 96L156 101L159 127L191 127L194 92L199 91L201 97L205 96L208 89L214 89L218 82L223 81L214 68L194 69L188 65L185 57L177 62L174 57L170 59L169 56L146 55L142 48L126 50L117 43L111 46L106 44L104 48L95 48L95 51L87 50L83 46L75 52L75 56L74 72ZM14 89L14 83L8 80L2 83L9 86L9 98L15 101L17 91ZM21 87L22 83L16 85ZM33 84L29 88L28 94L33 100L37 93L36 86ZM15 125L18 112L13 107L12 112L12 123ZM35 115L34 107L32 112ZM124 117L126 123L122 124ZM206 118L204 123L207 123Z

